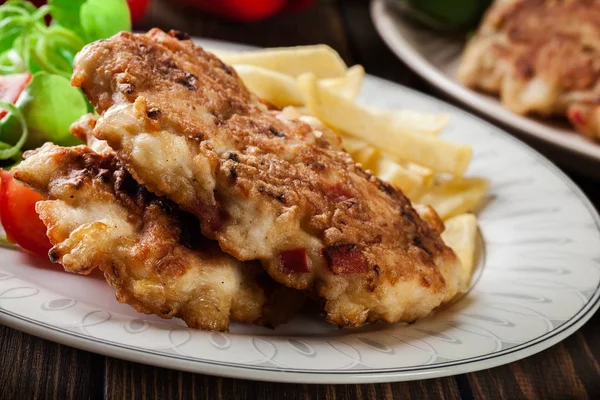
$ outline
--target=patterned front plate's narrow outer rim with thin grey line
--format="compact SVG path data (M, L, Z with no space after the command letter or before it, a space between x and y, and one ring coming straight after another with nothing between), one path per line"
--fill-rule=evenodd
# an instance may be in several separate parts
M227 42L220 43L226 44ZM473 115L469 111L460 109L453 104L447 103L428 94L421 93L404 85L372 75L367 75L366 80L392 86L394 90L401 90L410 92L413 95L422 96L432 103L443 104L453 115L459 115L462 118L473 119L481 124L481 126L486 126L491 129L495 135L498 135L498 137L512 142L512 144L515 146L520 146L523 150L530 154L530 156L540 161L549 170L549 172L563 181L563 183L575 194L577 200L581 201L581 203L585 206L594 222L596 230L600 231L600 215L583 191L556 165L554 165L550 160L548 160L545 156L540 154L528 144L511 136L503 129L491 124L490 122ZM576 332L594 315L599 307L600 281L598 282L598 286L596 286L594 294L590 297L590 299L564 324L542 336L531 339L528 342L511 347L509 349L473 357L475 360L471 361L467 361L469 359L457 360L457 364L454 364L453 362L447 362L438 364L438 366L435 366L434 364L434 366L424 365L418 367L402 367L363 372L340 370L340 372L337 373L321 370L294 371L286 369L268 369L264 367L256 368L251 366L227 365L227 363L219 361L210 362L208 360L189 360L180 357L178 358L174 357L173 355L154 353L152 350L148 349L135 348L118 343L107 343L107 341L102 339L85 336L80 333L70 331L66 328L60 328L52 324L32 320L26 316L5 310L2 307L0 307L0 323L34 336L42 337L44 339L81 350L163 368L173 368L181 371L228 378L285 383L380 383L458 375L504 365L509 362L529 357L553 346L554 344Z

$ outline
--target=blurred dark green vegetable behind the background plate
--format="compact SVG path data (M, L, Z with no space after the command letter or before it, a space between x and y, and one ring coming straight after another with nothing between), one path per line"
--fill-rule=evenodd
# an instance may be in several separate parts
M425 26L444 31L474 28L492 0L395 0L401 11Z

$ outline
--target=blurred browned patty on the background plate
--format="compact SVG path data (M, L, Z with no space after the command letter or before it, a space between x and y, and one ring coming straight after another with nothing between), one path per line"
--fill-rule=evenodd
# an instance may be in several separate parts
M513 111L563 115L600 138L600 4L497 0L463 55L459 78Z

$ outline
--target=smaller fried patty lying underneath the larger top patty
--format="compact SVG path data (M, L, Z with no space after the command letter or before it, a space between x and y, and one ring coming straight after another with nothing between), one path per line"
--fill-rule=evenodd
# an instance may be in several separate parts
M139 312L225 331L230 319L275 325L301 304L258 264L202 239L191 215L139 186L113 155L47 143L14 174L48 199L36 210L51 260L73 273L99 267L117 299Z

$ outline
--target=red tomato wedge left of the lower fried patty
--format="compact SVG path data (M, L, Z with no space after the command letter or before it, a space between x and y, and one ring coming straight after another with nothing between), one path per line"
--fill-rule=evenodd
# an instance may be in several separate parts
M9 241L42 257L52 247L46 226L35 211L41 196L13 179L10 172L0 170L0 221Z

